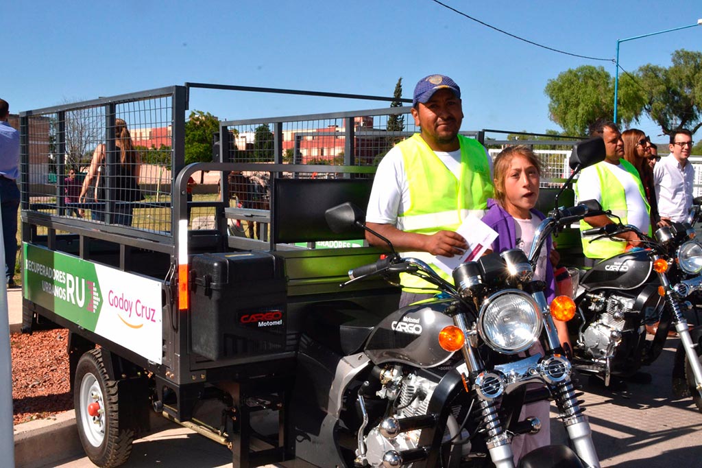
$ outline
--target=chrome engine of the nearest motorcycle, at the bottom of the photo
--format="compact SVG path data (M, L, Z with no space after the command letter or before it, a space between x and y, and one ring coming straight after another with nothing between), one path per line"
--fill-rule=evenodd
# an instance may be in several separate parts
M397 394L395 403L397 410L392 416L400 419L425 415L436 386L437 382L432 382L430 379L415 374L402 377L401 382L399 382L399 394ZM385 390L383 394L389 396L392 392ZM456 408L455 411L458 409L460 408ZM449 419L455 422L453 417ZM366 436L366 457L368 463L371 467L383 467L383 455L388 450L402 451L416 448L419 436L420 430L416 430L401 433L394 438L386 438L381 434L379 426L373 427L369 431L368 436ZM412 465L407 464L403 466L411 467Z

